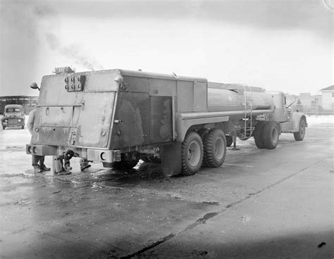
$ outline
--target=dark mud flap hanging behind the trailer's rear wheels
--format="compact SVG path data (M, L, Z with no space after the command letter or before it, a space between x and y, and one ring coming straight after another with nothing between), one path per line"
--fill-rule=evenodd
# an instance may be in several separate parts
M179 175L182 171L181 143L163 146L160 151L161 168L167 176Z

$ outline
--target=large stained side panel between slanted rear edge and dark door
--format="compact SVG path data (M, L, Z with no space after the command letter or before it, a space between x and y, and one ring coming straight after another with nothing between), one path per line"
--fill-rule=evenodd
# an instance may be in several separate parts
M118 93L111 149L149 144L149 94Z

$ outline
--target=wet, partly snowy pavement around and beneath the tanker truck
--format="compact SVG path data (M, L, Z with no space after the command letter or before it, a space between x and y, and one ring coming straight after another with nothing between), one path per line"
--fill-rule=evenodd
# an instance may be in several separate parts
M240 141L190 177L154 163L80 172L78 158L72 175L35 175L29 141L0 130L1 258L334 257L333 122L274 150Z

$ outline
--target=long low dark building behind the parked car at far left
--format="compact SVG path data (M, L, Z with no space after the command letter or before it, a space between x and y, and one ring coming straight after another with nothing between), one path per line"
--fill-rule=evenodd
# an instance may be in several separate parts
M0 96L0 113L4 113L4 108L7 104L20 104L23 106L25 114L29 114L30 110L37 105L38 96Z

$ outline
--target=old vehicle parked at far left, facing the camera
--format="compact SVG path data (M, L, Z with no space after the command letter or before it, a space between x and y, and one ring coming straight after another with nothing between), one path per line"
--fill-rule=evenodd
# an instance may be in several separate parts
M2 128L21 127L25 128L25 113L22 106L18 104L8 104L4 108L4 117L1 118Z

